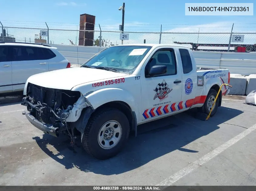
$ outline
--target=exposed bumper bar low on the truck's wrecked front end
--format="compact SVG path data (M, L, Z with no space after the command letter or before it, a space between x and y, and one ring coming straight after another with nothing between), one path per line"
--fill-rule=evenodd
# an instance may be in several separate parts
M59 136L59 128L52 126L52 124L46 124L38 121L29 111L25 110L25 116L27 117L28 121L32 123L33 126L40 129L41 131L58 137Z

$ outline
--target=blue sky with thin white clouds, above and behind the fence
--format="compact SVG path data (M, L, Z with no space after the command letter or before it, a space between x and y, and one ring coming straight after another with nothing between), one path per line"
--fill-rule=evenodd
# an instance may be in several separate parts
M253 3L255 0L247 0ZM232 23L234 33L256 32L255 16L185 16L185 3L188 0L0 0L0 21L5 27L26 27L37 29L8 28L8 33L16 40L24 42L25 38L34 39L39 29L79 30L80 14L96 16L95 30L119 31L122 12L118 8L125 2L125 32L194 32L195 34L163 34L163 43L172 41L198 43L228 43L230 34L200 34L208 32L231 32ZM213 0L194 0L193 3L212 3ZM217 3L241 3L238 0L215 1ZM254 4L254 14L256 14ZM50 41L58 44L70 44L69 39L77 42L77 31L51 30ZM119 33L105 32L104 39L120 43ZM98 38L95 32L94 38ZM159 34L130 33L129 41L125 43L158 43ZM255 34L247 34L245 43L255 43Z

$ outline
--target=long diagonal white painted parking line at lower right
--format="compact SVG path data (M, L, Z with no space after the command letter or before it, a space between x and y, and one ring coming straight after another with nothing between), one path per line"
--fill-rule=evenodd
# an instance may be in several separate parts
M216 157L222 151L224 151L227 148L229 148L230 146L234 145L236 142L238 142L239 140L244 138L246 135L248 135L255 129L256 129L256 124L249 127L245 131L241 132L239 135L235 136L234 138L231 138L228 142L225 142L223 145L219 146L218 148L215 148L213 151L204 155L202 158L199 158L192 164L190 164L187 167L183 168L182 170L176 172L175 174L173 174L169 178L165 179L161 183L157 184L156 186L171 186L173 183L177 182L182 177L185 177L188 173L190 173L194 169L198 168L200 165L210 161L212 158Z

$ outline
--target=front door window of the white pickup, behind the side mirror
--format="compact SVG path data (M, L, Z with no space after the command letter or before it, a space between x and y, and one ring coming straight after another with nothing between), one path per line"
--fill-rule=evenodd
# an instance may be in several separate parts
M159 50L149 60L145 68L145 76L148 75L150 68L153 65L161 64L167 66L167 73L165 75L177 74L176 60L173 49Z

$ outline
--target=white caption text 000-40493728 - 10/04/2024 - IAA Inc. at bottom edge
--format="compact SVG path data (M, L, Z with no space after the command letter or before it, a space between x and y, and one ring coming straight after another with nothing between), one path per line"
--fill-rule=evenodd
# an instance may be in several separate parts
M158 186L93 186L94 190L160 190Z

